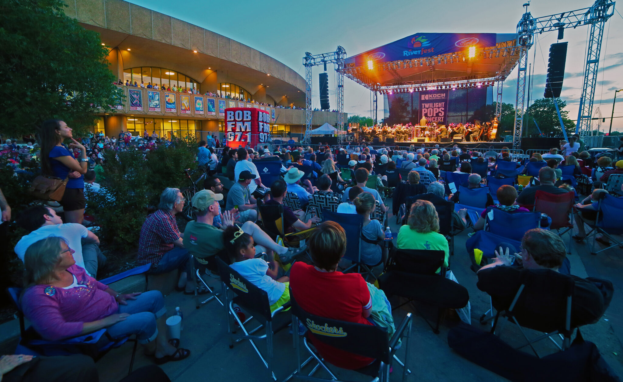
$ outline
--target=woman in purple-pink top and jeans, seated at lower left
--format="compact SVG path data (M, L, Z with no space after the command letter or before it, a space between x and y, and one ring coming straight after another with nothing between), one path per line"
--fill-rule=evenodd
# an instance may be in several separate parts
M179 338L166 341L166 309L159 291L117 293L76 266L73 253L59 236L39 240L26 250L21 305L41 337L61 340L106 328L112 338L136 335L159 364L190 355L190 350L177 348Z

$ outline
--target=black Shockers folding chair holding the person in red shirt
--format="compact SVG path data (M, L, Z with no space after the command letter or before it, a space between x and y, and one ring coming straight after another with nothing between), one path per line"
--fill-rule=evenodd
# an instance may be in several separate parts
M299 322L307 327L308 330L303 337L303 345L311 356L301 363L300 338L298 335L293 335L293 345L297 352L297 370L285 378L284 382L290 378L304 381L339 382L338 377L326 365L323 356L315 348L310 347L310 341L322 342L345 352L374 358L375 361L371 365L354 370L373 377L372 381L389 381L389 370L393 360L396 360L403 368L403 382L406 380L406 376L411 373L407 367L409 338L411 337L411 313L407 313L400 325L397 325L392 338L389 338L388 331L384 327L356 324L310 314L297 304L294 296L295 293L290 291L292 327L298 327ZM401 344L401 348L405 349L404 363L396 356L397 345L402 338L406 338L406 341ZM302 369L312 360L316 362L316 366L308 375L302 374ZM331 379L314 377L313 374L318 370L318 367L323 368Z

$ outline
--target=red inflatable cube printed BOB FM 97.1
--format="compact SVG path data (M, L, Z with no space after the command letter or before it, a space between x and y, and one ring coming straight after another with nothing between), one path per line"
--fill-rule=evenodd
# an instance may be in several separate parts
M228 147L255 147L268 141L270 114L257 108L227 108L225 126Z

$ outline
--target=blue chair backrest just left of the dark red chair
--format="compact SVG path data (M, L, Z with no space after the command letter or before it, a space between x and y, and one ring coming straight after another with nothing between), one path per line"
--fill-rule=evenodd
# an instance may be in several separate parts
M490 218L490 215L493 215L493 218ZM485 216L488 231L517 241L521 241L526 231L539 228L541 224L541 213L538 211L508 213L499 208L488 207Z

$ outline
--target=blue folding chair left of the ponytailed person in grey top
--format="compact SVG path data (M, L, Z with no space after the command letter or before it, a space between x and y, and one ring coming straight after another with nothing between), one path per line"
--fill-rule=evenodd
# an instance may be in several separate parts
M324 210L322 215L323 221L335 221L346 231L346 253L343 257L348 261L352 261L353 265L344 269L342 272L347 273L351 269L356 268L357 273L361 273L362 276L365 274L364 279L367 280L368 276L372 276L373 279L376 280L372 269L383 264L383 259L377 264L366 264L361 261L361 240L363 240L361 230L363 230L363 217L359 214L337 213L328 210ZM380 242L380 240L376 241ZM372 243L374 240L369 242Z

